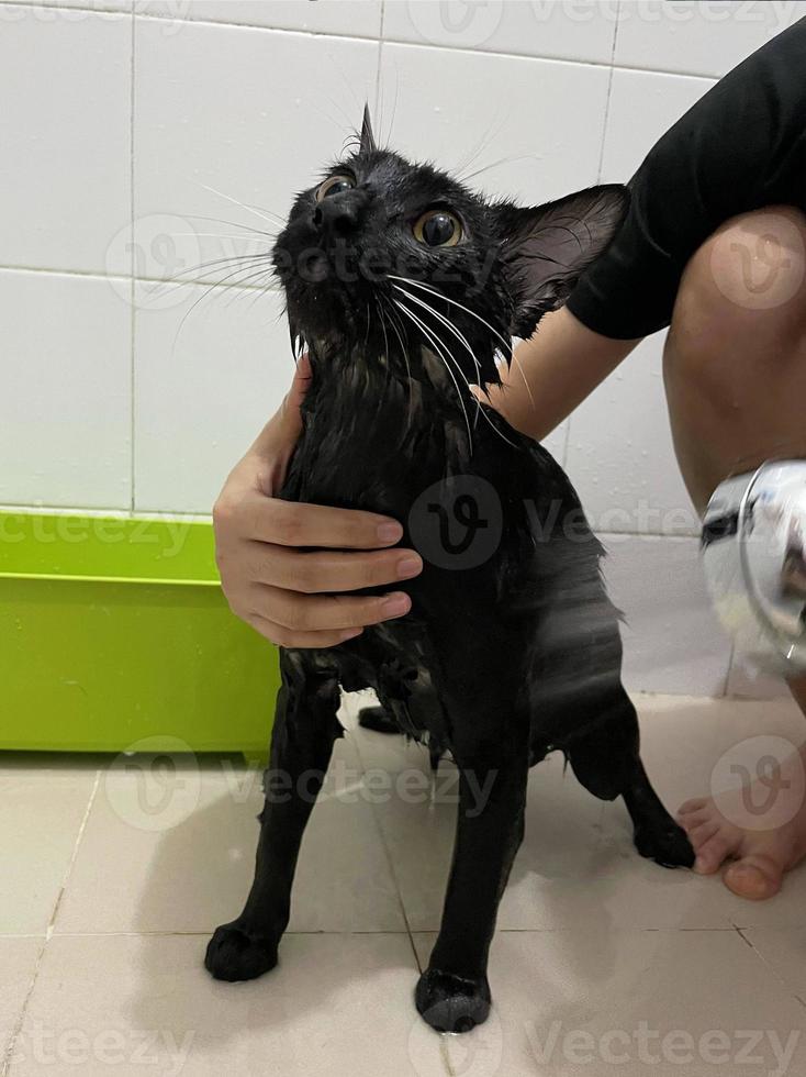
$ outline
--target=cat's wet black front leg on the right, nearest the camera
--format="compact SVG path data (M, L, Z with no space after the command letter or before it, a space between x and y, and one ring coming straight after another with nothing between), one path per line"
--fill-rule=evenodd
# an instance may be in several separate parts
M468 1032L490 1013L488 954L524 836L527 737L517 741L463 758L455 751L460 779L454 863L439 936L415 992L417 1010L438 1032Z

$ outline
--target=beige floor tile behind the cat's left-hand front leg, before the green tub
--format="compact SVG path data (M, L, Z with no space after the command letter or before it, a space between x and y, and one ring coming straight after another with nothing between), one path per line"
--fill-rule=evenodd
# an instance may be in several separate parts
M404 931L349 737L305 832L292 931ZM166 774L128 760L102 776L57 933L210 931L243 908L262 804L258 770Z

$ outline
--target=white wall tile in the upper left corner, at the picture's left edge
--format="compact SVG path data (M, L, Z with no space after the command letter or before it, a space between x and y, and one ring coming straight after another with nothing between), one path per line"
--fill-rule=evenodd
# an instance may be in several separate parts
M104 270L131 215L131 18L0 3L3 265Z

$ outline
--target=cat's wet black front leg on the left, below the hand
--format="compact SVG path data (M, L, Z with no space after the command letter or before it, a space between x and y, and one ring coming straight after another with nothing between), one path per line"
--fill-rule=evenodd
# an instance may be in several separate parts
M342 725L338 680L282 652L271 754L265 777L255 881L244 911L216 928L204 965L216 979L247 980L277 964L289 921L296 857Z

